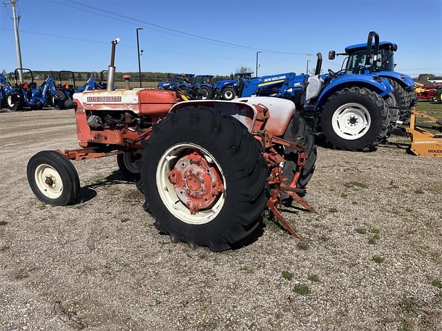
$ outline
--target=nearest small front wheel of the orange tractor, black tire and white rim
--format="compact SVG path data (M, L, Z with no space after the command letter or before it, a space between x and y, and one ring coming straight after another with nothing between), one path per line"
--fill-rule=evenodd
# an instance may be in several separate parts
M44 150L28 161L28 182L37 198L50 205L75 202L80 181L74 165L59 152Z

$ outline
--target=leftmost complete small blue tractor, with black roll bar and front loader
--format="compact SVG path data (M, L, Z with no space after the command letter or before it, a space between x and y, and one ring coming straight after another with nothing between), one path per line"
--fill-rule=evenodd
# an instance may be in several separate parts
M23 77L23 83L19 84L20 71ZM37 87L32 70L17 68L14 74L14 91L7 100L7 106L10 110L19 110L23 106L29 107L31 110L37 110L47 106L48 101L50 101L50 96L55 94L55 84L52 76L48 76L41 86Z

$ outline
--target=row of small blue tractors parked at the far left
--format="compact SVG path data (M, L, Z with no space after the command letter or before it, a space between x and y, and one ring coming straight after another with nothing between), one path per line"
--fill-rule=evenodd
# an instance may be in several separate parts
M72 100L74 93L106 89L104 77L106 72L107 70L100 72L99 81L95 77L90 77L86 83L77 87L74 72L61 70L55 74L58 81L50 75L40 86L37 86L32 70L17 68L14 70L15 83L10 83L5 74L0 74L0 108L21 110L26 107L39 110L44 107L56 107L64 109L65 101ZM26 77L26 79L19 79L19 77ZM62 78L67 79L64 81Z

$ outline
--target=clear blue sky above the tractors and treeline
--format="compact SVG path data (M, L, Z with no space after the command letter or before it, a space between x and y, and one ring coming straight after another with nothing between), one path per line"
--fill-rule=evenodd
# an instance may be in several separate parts
M327 57L331 49L365 42L368 32L376 30L381 40L398 44L397 71L442 74L442 0L19 0L18 8L23 66L33 70L106 69L110 41L119 37L117 71L137 71L135 28L141 27L144 71L229 74L239 66L254 70L256 50L264 50L259 55L260 75L300 73L307 59L312 60L310 68L316 61L305 54L320 51ZM10 6L0 13L0 70L10 71L17 66ZM179 36L148 23L247 48ZM336 71L342 60L327 60L323 68Z

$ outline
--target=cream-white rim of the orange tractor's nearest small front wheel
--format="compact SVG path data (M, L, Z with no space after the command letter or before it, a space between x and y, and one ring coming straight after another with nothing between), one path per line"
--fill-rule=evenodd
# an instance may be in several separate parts
M37 188L49 199L57 199L63 193L63 181L55 168L48 164L40 164L34 172Z

